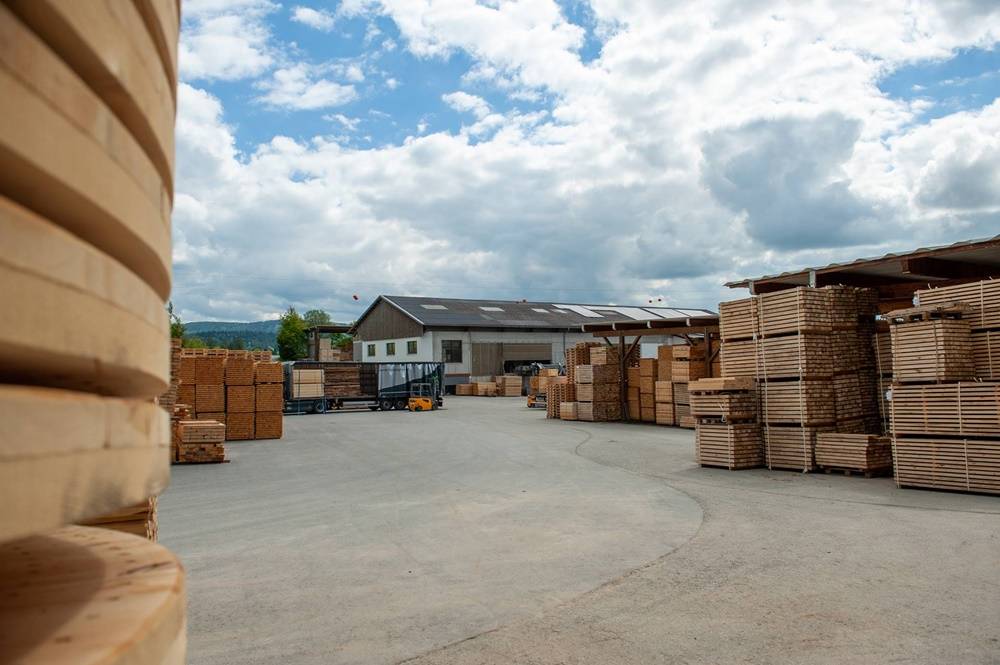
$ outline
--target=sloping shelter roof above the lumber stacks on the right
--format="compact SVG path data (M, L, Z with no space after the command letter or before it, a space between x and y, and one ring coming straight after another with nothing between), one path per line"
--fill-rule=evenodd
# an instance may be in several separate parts
M1000 235L727 282L729 288L933 284L1000 276ZM819 278L819 279L817 279ZM822 282L822 283L817 283Z

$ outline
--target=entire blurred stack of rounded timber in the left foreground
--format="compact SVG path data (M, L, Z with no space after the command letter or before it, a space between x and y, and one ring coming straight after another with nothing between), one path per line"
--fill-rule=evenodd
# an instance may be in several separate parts
M178 31L173 0L0 3L3 662L185 659L177 558L71 526L169 480Z

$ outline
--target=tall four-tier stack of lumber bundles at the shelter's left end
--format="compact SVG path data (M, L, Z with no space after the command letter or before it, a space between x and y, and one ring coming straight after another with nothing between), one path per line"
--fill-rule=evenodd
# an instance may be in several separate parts
M722 374L759 384L769 468L811 470L819 432L878 428L873 292L802 287L719 311Z

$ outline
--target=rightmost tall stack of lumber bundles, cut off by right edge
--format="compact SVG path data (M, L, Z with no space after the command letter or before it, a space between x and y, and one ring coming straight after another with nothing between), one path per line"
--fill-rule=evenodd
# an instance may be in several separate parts
M1000 322L994 282L918 291L890 312L900 487L1000 494L1000 383L978 381L973 334ZM968 298L962 301L959 298Z

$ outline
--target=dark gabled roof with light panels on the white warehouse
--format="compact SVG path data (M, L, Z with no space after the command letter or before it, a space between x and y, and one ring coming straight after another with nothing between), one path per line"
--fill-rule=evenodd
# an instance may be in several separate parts
M585 305L566 301L467 300L418 296L379 296L354 327L385 301L429 328L541 328L581 330L585 323L715 316L705 309Z

